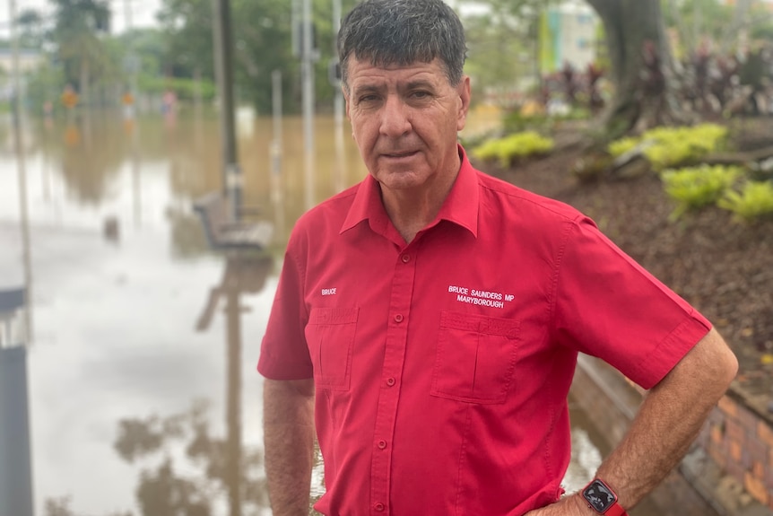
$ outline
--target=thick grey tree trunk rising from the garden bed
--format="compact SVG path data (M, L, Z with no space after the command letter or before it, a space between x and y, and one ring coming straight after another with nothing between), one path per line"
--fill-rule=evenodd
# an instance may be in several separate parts
M660 0L587 0L604 23L614 86L609 136L683 121Z

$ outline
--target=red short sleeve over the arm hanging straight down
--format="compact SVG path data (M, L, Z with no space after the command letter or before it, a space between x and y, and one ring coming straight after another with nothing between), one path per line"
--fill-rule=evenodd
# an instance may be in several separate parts
M304 337L308 320L303 302L300 267L291 253L284 256L257 371L272 380L312 378L313 370Z

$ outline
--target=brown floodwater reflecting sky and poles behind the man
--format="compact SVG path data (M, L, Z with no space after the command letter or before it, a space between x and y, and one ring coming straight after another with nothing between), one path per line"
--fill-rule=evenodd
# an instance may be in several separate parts
M473 113L470 126L492 119ZM192 210L221 187L215 118L22 127L19 155L11 121L0 126L0 290L31 293L35 513L269 513L259 343L292 223L366 173L348 126L317 118L309 191L300 118L282 120L279 173L272 120L238 117L245 203L276 229L264 256L243 257L208 249ZM574 444L569 489L601 460L586 429ZM319 467L314 481L319 494Z

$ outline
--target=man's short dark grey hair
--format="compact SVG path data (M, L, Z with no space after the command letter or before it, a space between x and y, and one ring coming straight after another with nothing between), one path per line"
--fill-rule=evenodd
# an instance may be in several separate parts
M462 80L465 29L443 0L365 0L343 18L338 57L343 87L349 91L349 57L376 66L430 63L436 57L448 83Z

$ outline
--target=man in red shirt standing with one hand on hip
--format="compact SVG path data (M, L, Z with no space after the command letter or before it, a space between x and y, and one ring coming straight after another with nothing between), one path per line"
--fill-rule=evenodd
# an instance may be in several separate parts
M366 0L339 35L369 176L292 232L262 345L274 515L624 514L682 457L737 363L696 310L569 206L475 171L465 39L441 0ZM578 352L651 389L567 494Z

